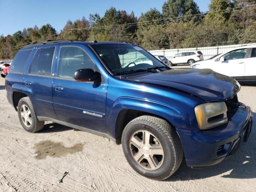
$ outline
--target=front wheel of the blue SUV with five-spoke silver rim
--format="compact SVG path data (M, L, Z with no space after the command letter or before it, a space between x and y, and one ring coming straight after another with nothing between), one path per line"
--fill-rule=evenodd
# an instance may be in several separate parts
M126 125L122 148L130 166L154 180L164 180L174 174L183 158L174 128L166 120L153 116L140 116Z

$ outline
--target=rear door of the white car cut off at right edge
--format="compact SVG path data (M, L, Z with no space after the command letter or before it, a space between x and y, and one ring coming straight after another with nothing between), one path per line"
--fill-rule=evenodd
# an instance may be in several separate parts
M256 48L252 48L250 51L245 64L244 79L256 80Z

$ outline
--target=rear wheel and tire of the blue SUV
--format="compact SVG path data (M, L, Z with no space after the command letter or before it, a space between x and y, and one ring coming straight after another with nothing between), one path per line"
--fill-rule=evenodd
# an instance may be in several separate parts
M35 133L44 128L44 121L38 120L32 102L28 97L19 100L18 116L22 127L28 132Z

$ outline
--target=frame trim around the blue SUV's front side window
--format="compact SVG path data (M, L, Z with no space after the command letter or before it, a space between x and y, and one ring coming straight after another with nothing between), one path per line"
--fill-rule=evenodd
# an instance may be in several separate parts
M90 60L92 60L92 63L93 63L94 66L96 67L96 71L95 71L95 72L100 73L100 76L101 76L101 82L100 82L100 84L104 84L104 78L103 78L103 76L102 76L102 74L101 74L101 72L100 72L98 66L96 65L96 63L94 62L94 60L92 59L92 57L90 56L90 54L88 54L88 53L86 52L86 50L84 50L82 47L80 47L80 46L74 46L74 45L63 45L63 46L60 46L60 50L59 50L59 52L58 52L58 63L57 63L57 67L56 67L56 73L54 74L54 78L56 78L56 79L61 79L61 80L76 81L74 78L66 78L66 77L59 77L59 76L58 76L58 75L59 75L60 52L61 52L61 48L62 48L62 47L77 47L77 48L82 49L82 50L85 52L85 54L88 55L88 57L90 58ZM93 50L93 52L94 52L94 50ZM76 82L77 82L77 81L76 81ZM82 82L82 83L94 83L94 82L88 81L88 82Z

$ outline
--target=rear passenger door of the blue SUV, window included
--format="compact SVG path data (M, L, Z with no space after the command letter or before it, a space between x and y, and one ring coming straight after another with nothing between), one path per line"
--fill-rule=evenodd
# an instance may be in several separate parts
M52 66L57 46L34 48L34 57L23 80L22 91L27 94L37 116L56 118L52 105Z

